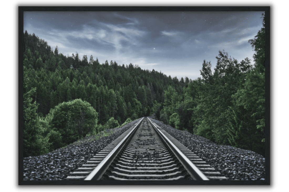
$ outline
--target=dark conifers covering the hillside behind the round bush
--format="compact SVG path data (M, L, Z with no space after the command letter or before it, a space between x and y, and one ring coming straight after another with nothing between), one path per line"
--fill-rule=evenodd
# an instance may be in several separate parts
M59 103L82 99L99 113L99 123L106 123L110 117L123 123L127 118L159 114L160 109L154 107L154 103L164 101L163 92L168 85L178 93L182 91L177 77L142 70L131 63L126 66L112 61L100 64L92 56L88 62L86 55L80 60L77 53L66 57L58 54L57 47L53 52L47 42L34 34L25 31L24 37L23 64L29 79L24 93L36 87L32 99L39 104L36 112L40 117Z

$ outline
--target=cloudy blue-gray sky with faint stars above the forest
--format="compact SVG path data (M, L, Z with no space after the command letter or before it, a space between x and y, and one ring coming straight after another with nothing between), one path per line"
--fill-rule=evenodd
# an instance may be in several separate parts
M216 67L219 50L239 63L253 64L254 39L264 12L24 12L29 34L44 39L53 50L100 64L138 65L166 76L202 77L203 61Z

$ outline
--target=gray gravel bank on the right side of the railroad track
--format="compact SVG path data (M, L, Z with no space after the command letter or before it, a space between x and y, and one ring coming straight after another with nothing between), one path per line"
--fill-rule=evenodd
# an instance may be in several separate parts
M188 131L176 130L160 121L151 120L229 180L265 180L265 157L262 155L250 150L217 145Z

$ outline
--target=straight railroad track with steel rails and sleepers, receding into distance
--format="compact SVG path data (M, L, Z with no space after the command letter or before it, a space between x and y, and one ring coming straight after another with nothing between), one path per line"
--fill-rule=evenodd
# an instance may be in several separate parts
M226 180L149 118L141 118L66 180Z

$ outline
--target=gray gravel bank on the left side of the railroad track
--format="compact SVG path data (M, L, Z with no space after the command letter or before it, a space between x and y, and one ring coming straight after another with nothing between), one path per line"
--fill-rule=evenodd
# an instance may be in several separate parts
M67 176L74 176L72 172L118 138L138 120L132 121L123 127L105 130L107 132L112 130L114 133L99 140L90 141L92 139L90 136L84 138L82 144L74 142L65 148L57 149L45 155L25 157L23 159L23 179L65 180Z

